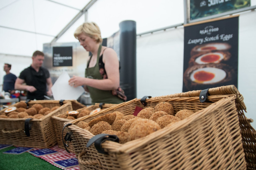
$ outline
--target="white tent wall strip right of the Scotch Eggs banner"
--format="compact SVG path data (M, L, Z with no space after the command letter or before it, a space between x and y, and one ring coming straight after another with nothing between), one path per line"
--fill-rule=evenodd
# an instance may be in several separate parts
M256 11L239 16L238 90L256 129Z

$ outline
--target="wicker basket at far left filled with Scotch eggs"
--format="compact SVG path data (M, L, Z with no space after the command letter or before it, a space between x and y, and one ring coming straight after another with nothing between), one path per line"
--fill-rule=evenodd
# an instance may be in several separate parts
M18 103L12 106L16 106ZM52 124L51 117L52 115L58 115L67 110L72 110L71 102L64 101L63 105L61 105L56 100L29 101L28 108L31 108L36 103L48 108L54 106L60 107L40 119L30 120L33 124L31 130L29 130L29 137L24 133L26 118L0 118L0 139L2 144L14 144L34 148L50 148L56 144L54 125ZM0 115L4 114L6 109L1 110Z

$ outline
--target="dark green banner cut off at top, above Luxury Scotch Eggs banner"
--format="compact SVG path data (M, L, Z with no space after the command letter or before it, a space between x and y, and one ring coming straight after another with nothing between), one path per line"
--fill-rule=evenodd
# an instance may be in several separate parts
M190 20L249 7L251 0L190 0Z

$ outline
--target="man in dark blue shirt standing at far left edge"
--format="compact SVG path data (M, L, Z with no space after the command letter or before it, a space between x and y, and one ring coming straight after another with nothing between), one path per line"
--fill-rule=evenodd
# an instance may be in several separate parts
M5 63L3 66L3 70L5 71L6 75L3 76L3 91L9 92L10 94L14 94L14 84L17 77L10 73L12 65Z

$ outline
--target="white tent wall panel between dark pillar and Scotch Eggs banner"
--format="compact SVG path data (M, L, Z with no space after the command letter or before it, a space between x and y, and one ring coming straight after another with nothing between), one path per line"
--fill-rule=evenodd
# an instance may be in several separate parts
M182 92L183 31L137 38L137 98Z

